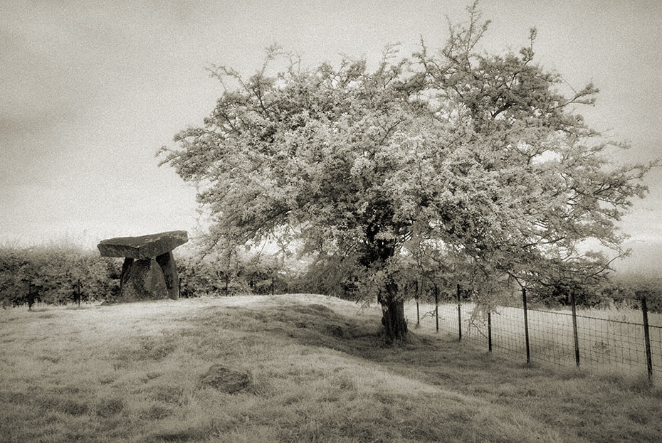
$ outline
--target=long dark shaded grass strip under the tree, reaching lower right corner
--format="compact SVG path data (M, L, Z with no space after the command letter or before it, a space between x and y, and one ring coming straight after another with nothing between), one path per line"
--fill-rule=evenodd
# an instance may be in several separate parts
M649 387L642 391L641 383L592 377L583 371L550 365L517 363L444 333L436 336L412 330L405 343L385 346L379 316L347 316L322 304L279 300L266 309L224 307L219 314L221 311L225 319L232 319L228 321L234 329L332 349L377 363L393 375L522 410L564 432L569 439L583 435L590 440L609 441L621 426L613 420L614 414L636 421L632 412L641 407L642 395L649 403L662 400L662 390ZM611 410L606 411L604 405L611 405ZM655 407L649 414L658 417L662 409ZM649 431L641 434L642 441Z

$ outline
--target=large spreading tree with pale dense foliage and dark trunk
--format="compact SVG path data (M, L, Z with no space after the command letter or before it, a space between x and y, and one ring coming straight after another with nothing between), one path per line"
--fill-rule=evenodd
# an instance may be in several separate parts
M484 282L603 266L577 246L619 250L614 222L648 166L609 163L574 110L597 89L557 92L562 78L532 62L535 31L518 54L480 54L488 22L468 11L442 48L396 60L390 47L372 70L290 58L271 73L278 48L250 78L214 67L213 112L160 151L199 186L209 247L298 242L343 290L377 297L389 342L406 338L414 262L466 264Z

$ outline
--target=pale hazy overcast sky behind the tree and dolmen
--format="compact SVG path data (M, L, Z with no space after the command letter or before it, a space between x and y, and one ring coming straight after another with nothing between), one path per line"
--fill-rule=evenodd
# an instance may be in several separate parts
M340 54L402 55L421 38L448 38L446 17L467 1L26 1L0 0L0 244L104 238L199 228L195 189L161 146L201 124L222 94L211 65L253 73L279 43L304 65ZM631 149L614 161L662 157L662 2L483 0L489 53L517 51L537 28L535 60L581 89L589 124ZM621 229L626 267L662 266L662 171L646 178ZM657 260L657 261L656 261Z

